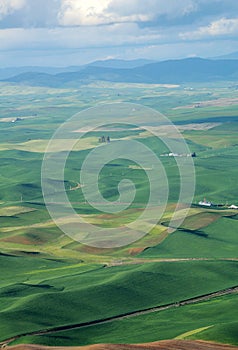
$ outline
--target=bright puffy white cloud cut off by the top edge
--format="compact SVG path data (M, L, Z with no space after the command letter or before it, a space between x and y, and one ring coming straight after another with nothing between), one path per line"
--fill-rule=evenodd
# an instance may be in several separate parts
M183 16L197 9L194 0L62 0L58 15L63 26L148 22L160 15Z

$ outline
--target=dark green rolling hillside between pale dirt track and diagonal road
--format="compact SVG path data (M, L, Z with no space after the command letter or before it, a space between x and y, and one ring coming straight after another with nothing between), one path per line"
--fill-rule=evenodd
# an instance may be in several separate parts
M12 260L15 262L12 262ZM17 334L91 321L172 303L206 294L237 284L234 277L236 262L177 262L150 263L111 268L94 267L84 272L81 268L65 269L56 278L55 266L47 271L47 260L30 274L25 272L26 262L19 270L17 259L4 260L9 272L17 279L4 281L1 306L1 339ZM29 261L29 260L28 260ZM36 260L40 264L40 260ZM41 268L43 267L41 265ZM86 269L90 269L90 266ZM32 269L32 267L31 267ZM73 271L73 273L72 273ZM50 276L50 273L52 275ZM7 276L7 275L6 275Z

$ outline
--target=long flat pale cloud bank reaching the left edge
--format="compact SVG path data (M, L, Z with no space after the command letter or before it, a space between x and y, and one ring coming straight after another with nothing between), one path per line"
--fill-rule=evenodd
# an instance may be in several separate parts
M159 42L163 37L136 23L77 28L9 28L0 30L0 50L92 49Z

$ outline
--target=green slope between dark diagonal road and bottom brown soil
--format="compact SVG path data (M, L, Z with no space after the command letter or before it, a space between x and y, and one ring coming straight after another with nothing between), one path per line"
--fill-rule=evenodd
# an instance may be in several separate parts
M143 343L164 339L204 339L237 345L237 295L226 296L137 316L99 326L86 327L45 336L24 337L17 343L78 345L96 343ZM200 331L200 328L209 327ZM184 336L191 332L194 335Z

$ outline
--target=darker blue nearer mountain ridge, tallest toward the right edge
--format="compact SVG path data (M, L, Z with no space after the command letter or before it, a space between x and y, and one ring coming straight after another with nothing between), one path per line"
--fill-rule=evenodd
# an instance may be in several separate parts
M80 72L57 74L64 82L105 80L136 83L183 83L233 80L238 78L238 60L188 58L169 60L136 67L115 69L88 66Z

